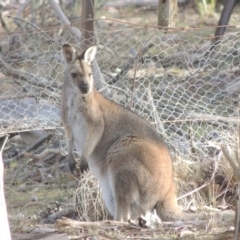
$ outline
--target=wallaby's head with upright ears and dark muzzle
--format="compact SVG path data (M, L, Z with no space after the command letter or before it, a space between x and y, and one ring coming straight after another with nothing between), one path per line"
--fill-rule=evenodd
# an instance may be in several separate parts
M93 89L91 63L96 55L97 47L91 46L79 54L69 44L62 46L62 56L68 64L67 74L69 84L82 94L87 94Z

